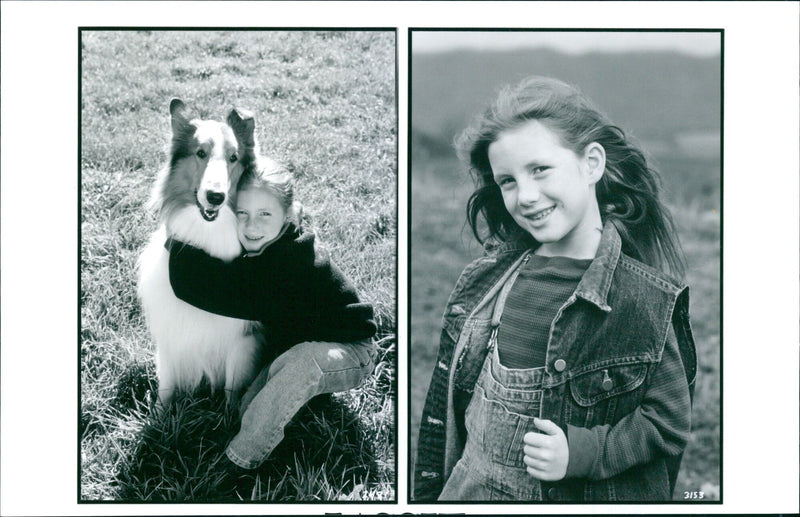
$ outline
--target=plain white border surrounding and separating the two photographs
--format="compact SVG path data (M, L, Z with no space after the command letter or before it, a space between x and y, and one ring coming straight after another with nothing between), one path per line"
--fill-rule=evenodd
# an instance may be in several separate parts
M0 514L798 511L797 3L3 2ZM399 436L393 505L77 504L79 26L397 27ZM408 27L725 29L724 505L406 500Z

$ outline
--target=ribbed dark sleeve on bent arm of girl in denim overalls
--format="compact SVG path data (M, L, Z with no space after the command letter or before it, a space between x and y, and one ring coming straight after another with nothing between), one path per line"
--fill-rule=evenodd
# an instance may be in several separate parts
M659 456L680 454L691 431L689 387L670 330L639 407L615 425L567 426L567 478L606 479Z

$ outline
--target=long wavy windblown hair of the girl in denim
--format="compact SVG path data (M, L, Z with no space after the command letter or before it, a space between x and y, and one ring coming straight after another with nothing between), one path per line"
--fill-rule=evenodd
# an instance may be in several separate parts
M622 238L622 251L657 269L682 278L683 251L672 217L661 202L658 172L644 153L613 125L577 88L547 77L529 77L505 87L495 101L455 141L458 156L475 181L467 203L467 222L478 242L537 243L505 208L489 164L489 145L503 131L537 120L554 131L564 147L582 155L597 142L606 152L606 169L596 185L600 216L611 221ZM481 229L480 220L486 223Z

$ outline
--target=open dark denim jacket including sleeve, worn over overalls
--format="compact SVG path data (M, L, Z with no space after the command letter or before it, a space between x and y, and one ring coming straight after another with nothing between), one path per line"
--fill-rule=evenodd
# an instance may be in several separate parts
M450 295L420 424L416 501L436 500L461 456L464 412L488 350L494 304L529 252L508 243L474 261ZM588 440L598 456L583 466L583 477L570 477L571 450L567 477L542 482L545 499L670 499L697 369L688 308L688 288L622 253L619 233L606 223L594 260L553 321L540 415L565 431L571 448ZM653 385L657 372L658 383L669 386ZM643 403L655 409L645 414ZM679 413L673 427L682 429L659 426L658 409L665 408Z

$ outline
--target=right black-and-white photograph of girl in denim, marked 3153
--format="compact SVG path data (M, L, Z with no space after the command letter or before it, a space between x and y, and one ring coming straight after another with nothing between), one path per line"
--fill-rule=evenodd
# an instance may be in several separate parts
M722 30L409 30L409 501L720 503Z

